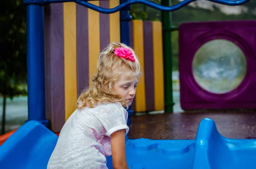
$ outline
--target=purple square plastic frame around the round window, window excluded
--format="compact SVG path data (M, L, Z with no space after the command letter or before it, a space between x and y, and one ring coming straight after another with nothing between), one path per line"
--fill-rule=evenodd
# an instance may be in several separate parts
M224 39L244 52L247 72L240 85L230 92L215 94L195 81L192 60L198 49L210 40ZM256 108L256 21L184 23L179 28L180 105L186 109Z

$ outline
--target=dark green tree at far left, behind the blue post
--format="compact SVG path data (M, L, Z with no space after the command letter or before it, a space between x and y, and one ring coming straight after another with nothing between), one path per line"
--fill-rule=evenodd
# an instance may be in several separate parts
M0 6L0 95L3 97L2 133L6 98L26 95L26 6L22 0L2 0Z

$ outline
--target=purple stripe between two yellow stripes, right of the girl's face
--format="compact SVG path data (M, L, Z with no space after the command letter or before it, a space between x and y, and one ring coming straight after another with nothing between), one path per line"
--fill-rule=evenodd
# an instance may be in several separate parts
M144 21L143 29L146 110L154 111L154 59L152 22Z

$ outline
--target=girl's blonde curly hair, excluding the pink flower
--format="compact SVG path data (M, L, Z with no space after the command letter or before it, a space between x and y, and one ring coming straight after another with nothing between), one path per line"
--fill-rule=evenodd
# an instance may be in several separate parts
M114 54L115 48L127 48L130 49L134 55L134 61L117 57ZM115 71L114 70L118 70ZM128 76L133 78L139 77L140 61L134 50L126 46L123 43L113 42L110 43L100 54L97 63L97 72L92 78L92 85L84 89L79 96L76 107L77 109L83 109L84 107L92 108L97 103L110 103L119 102L125 109L128 109L126 100L113 91L113 85L116 83L122 74L122 72L128 72Z

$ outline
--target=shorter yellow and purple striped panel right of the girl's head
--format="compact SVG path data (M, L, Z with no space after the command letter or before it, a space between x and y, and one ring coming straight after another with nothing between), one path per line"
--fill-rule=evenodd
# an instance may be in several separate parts
M140 58L143 72L131 109L134 112L164 110L161 22L133 20L130 24L130 45Z

